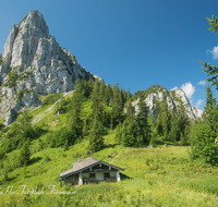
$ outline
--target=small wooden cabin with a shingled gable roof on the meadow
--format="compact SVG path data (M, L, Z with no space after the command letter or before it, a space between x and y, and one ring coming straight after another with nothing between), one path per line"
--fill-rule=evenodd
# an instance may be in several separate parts
M122 168L88 157L73 163L73 168L60 173L64 184L83 185L84 183L120 182Z

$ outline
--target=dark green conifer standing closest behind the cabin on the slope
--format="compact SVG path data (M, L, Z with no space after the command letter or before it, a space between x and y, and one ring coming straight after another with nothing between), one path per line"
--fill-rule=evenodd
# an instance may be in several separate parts
M98 120L94 120L93 127L89 134L88 149L90 151L98 151L104 147L102 124Z

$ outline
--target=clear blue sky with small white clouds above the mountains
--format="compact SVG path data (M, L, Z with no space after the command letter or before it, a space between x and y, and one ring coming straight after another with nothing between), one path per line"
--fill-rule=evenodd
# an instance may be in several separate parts
M7 0L0 52L12 23L38 10L59 45L106 83L132 94L152 85L183 88L203 109L207 74L197 60L218 65L218 34L205 19L218 16L217 8L217 0Z

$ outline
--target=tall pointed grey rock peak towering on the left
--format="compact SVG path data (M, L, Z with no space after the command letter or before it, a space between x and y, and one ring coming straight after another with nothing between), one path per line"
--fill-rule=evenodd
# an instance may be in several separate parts
M83 77L93 75L49 35L43 14L31 11L13 24L0 56L0 119L8 125L19 110L41 105L37 94L73 90Z

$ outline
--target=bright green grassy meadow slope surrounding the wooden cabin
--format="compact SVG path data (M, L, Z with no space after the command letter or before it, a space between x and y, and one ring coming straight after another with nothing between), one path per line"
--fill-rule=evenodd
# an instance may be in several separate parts
M50 106L33 111L34 117ZM87 102L84 119L90 111ZM53 110L43 117L36 124L56 131L66 122L66 114L56 115ZM44 139L46 135L41 137ZM197 166L189 159L187 148L169 146L161 148L128 148L116 145L114 131L105 136L105 149L92 156L123 168L120 183L101 183L60 187L59 174L72 167L86 155L88 141L71 146L68 151L62 148L47 148L37 151L37 141L32 143L32 163L9 173L7 183L2 184L0 203L4 206L218 206L218 169ZM19 150L10 153L9 160L17 157ZM16 194L5 193L13 185ZM20 185L26 191L38 191L44 186L44 194L21 194ZM75 192L75 194L49 194L49 185L56 185L57 192ZM48 193L48 194L47 194Z

